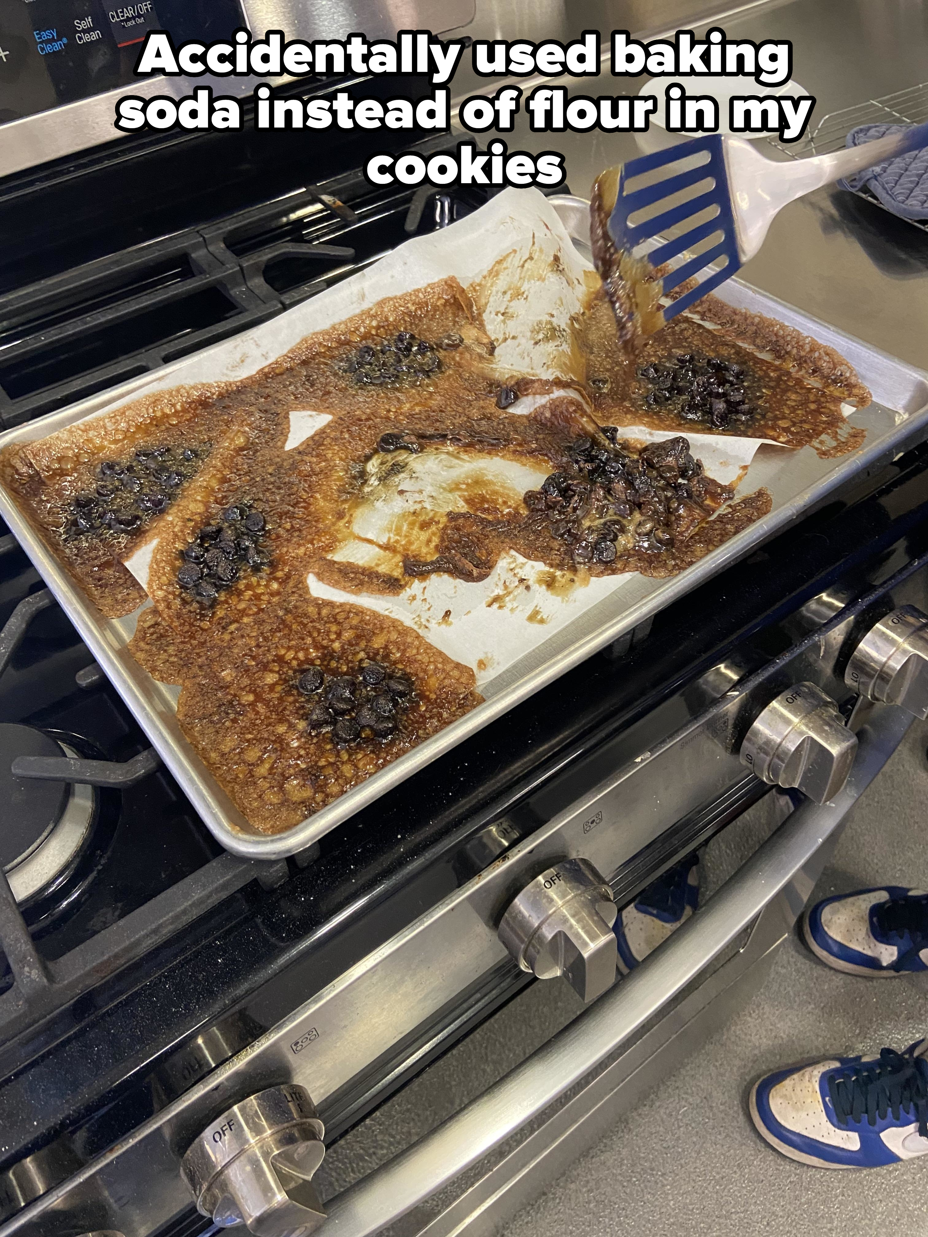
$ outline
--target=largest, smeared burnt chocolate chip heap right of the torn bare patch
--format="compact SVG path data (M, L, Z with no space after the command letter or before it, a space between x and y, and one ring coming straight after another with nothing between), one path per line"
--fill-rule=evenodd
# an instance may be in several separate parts
M683 437L651 443L640 455L619 444L619 430L605 426L609 447L580 438L567 450L562 469L528 490L525 503L543 513L551 533L575 563L611 563L621 552L672 549L679 527L703 517L693 482L703 465ZM683 517L689 516L689 520Z

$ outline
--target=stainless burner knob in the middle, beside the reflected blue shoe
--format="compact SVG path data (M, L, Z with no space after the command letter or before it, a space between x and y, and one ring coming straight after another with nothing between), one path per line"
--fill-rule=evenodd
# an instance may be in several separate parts
M539 980L563 975L593 1001L615 980L617 946L612 891L585 858L542 872L510 904L500 940L523 971Z

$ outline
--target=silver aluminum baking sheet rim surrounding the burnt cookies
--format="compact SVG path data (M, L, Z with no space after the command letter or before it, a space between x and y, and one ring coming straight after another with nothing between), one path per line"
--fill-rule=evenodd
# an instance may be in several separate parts
M567 233L583 250L583 242L588 238L588 204L583 199L569 197L553 198L549 202L557 210ZM447 272L437 272L434 277L440 277L442 273ZM376 283L377 281L371 282ZM390 293L380 292L377 298L386 294ZM137 717L152 746L177 778L210 833L226 850L238 855L251 858L278 858L292 855L311 846L360 808L372 803L412 773L598 649L631 631L711 575L744 558L754 547L797 518L798 515L819 505L844 481L928 438L928 374L923 370L906 365L870 348L861 340L845 335L737 280L724 283L716 296L739 308L776 318L822 343L831 345L855 366L861 381L874 393L874 403L867 408L853 412L849 418L851 426L866 430L864 444L854 453L836 460L822 460L808 447L794 452L782 447L760 445L752 454L740 492L751 492L760 486L766 486L773 497L773 506L767 516L677 576L666 580L648 579L641 575L624 578L621 588L616 588L564 622L523 656L510 659L500 673L484 679L480 683L480 690L485 696L484 704L283 834L266 836L251 830L241 813L202 763L177 725L174 703L178 689L152 679L126 649L134 620L109 620L100 615L37 536L19 508L15 497L5 492L2 487L0 487L0 513L73 621L100 667ZM307 304L313 304L313 302ZM275 345L276 351L270 350L266 356L261 357L261 364L280 355L302 335L319 329L316 324L299 328L298 315L303 308L297 307L281 318L273 319L278 343ZM344 315L343 313L342 317ZM285 325L288 318L291 322ZM294 338L291 340L288 335L294 332ZM51 413L38 421L9 430L0 435L0 448L14 442L45 438L77 421L124 403L142 391L199 381L203 375L210 372L212 365L218 367L220 360L225 376L230 348L234 348L236 343L236 340L226 341L195 354L193 357L160 371L153 382L151 379L135 380L108 391L105 395L82 401L61 412ZM241 355L245 355L244 351ZM257 365L250 364L243 372L250 372L251 369L256 367Z

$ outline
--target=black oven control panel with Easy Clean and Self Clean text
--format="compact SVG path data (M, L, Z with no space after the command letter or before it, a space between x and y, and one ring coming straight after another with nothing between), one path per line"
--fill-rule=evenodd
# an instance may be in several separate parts
M238 0L0 0L0 124L130 85L150 30L228 37Z

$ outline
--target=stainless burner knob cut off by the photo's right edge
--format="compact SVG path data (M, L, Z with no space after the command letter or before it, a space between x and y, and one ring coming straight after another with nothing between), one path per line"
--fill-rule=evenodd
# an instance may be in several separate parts
M928 717L928 615L901 606L881 618L854 651L844 682L867 700Z

